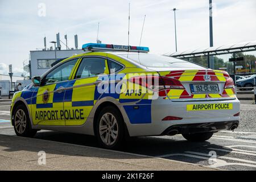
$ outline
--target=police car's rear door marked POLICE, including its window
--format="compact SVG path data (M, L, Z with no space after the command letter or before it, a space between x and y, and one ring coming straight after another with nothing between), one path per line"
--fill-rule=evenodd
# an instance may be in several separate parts
M82 125L97 101L97 81L101 74L108 75L108 63L104 57L84 57L75 77L65 90L64 117L66 126Z

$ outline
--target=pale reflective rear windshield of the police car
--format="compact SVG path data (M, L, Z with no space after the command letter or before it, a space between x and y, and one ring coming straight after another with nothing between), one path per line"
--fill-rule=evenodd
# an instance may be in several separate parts
M176 59L174 57L162 56L162 55L151 55L146 53L138 54L119 54L120 56L127 57L145 67L159 67L159 68L203 68L199 65Z

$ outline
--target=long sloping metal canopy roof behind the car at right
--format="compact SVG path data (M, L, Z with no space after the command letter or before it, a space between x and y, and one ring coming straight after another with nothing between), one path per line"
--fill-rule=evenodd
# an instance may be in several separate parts
M194 50L187 50L183 52L166 53L165 56L172 56L178 58L189 58L189 57L199 57L199 56L215 56L223 55L226 53L237 53L237 52L247 52L256 51L256 41L245 42L238 44L228 44L224 46L199 48Z

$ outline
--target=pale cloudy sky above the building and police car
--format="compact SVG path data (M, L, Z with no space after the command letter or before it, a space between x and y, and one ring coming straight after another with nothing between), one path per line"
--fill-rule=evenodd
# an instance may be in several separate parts
M14 1L0 0L0 74L13 64L15 75L23 73L23 61L29 51L43 48L49 42L68 35L68 46L95 43L100 23L102 43L127 44L130 3L130 45L150 48L151 53L175 52L174 7L177 23L177 50L209 47L208 0L109 0L109 1ZM213 44L256 40L255 0L213 0ZM62 45L63 46L63 45ZM64 48L64 46L63 46Z

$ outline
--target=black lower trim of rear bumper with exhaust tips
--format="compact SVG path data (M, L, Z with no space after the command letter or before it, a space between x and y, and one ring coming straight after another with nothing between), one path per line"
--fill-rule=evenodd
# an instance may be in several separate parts
M230 130L232 126L238 127L239 121L223 121L223 122L210 122L210 123L193 123L186 125L173 125L164 130L161 135L168 135L170 131L177 130L177 134L193 134L205 132L217 132L220 130Z

